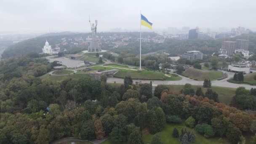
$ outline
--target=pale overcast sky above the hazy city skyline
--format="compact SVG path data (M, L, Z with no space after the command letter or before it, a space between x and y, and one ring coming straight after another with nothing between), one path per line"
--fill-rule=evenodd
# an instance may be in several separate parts
M153 30L256 27L256 0L0 0L0 31L138 30L140 10Z

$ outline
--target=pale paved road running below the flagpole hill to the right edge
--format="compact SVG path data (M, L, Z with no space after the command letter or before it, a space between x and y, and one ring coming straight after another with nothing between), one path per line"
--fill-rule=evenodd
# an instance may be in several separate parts
M245 84L236 84L236 83L229 83L227 80L234 75L233 73L229 72L228 73L228 78L225 78L223 80L215 80L212 81L211 85L212 86L220 86L220 87L227 87L227 88L238 88L240 86L245 87L246 89L251 89L251 88L256 88L256 85L245 85ZM133 83L139 82L139 83L150 83L152 81L152 85L157 86L157 85L185 85L186 83L190 83L192 85L203 85L203 81L197 81L197 80L192 80L187 77L182 77L182 80L177 80L177 81L163 81L163 80L133 80ZM123 83L122 78L116 78L116 77L108 77L107 83Z

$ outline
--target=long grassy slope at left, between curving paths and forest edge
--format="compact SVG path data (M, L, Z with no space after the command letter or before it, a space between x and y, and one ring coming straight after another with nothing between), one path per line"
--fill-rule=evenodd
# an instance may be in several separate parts
M40 78L42 80L46 80L46 79L49 79L49 80L54 80L54 81L62 81L66 78L72 78L72 79L75 79L75 80L79 80L80 78L82 77L90 77L88 74L78 74L78 72L76 74L70 74L70 75L49 75L49 74L45 74L45 75L42 75Z

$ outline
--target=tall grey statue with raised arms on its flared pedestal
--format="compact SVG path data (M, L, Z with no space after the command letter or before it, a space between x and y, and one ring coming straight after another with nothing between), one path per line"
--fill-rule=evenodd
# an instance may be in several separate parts
M88 52L99 52L101 51L101 48L99 47L99 44L97 43L97 24L98 21L95 20L95 25L93 23L91 23L90 17L89 17L89 22L91 25L91 35L92 35L92 40L90 43L90 46L88 47Z

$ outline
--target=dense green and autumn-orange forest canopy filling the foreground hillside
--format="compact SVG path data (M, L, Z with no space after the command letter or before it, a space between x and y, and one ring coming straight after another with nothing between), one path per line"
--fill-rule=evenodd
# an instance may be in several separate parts
M211 89L195 92L190 84L181 93L157 85L153 96L150 83L134 84L129 76L122 85L110 85L106 77L42 80L57 65L42 56L29 53L0 61L1 144L45 144L68 136L143 144L141 130L155 134L166 122L182 120L205 138L221 136L232 144L243 141L242 132L256 131L255 115L242 111L256 110L256 89L237 88L234 107L229 107Z

